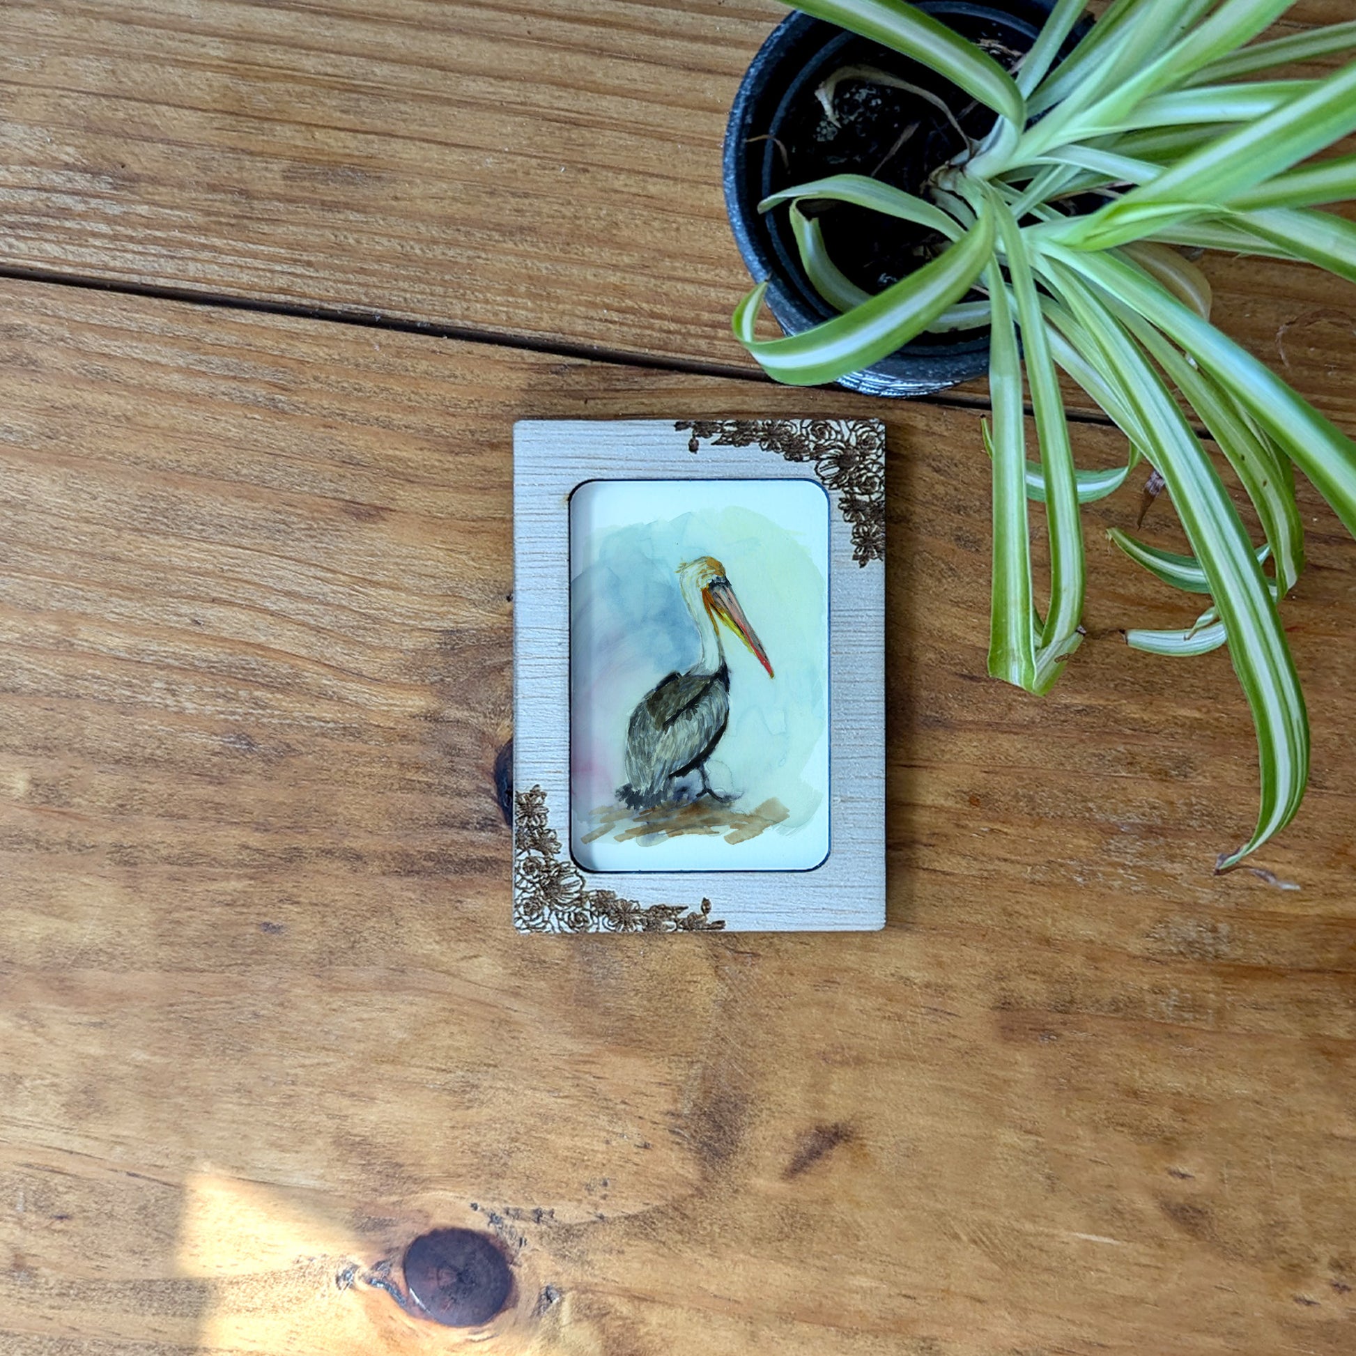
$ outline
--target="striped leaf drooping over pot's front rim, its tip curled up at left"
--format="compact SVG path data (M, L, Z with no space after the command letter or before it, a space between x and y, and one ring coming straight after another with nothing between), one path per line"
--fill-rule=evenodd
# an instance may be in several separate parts
M959 301L993 256L994 222L987 214L945 254L842 316L785 339L758 339L754 323L762 293L755 287L735 308L735 338L777 381L814 386L869 367L922 334ZM765 285L763 285L765 286Z

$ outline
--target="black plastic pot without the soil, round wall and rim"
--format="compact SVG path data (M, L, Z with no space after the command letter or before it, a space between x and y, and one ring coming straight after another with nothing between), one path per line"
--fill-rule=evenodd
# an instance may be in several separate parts
M919 9L959 33L997 35L995 41L1018 52L1035 41L1051 4L1052 0L998 0L987 5L965 0L917 0ZM800 266L785 209L766 216L758 213L759 201L788 182L786 170L778 163L777 144L793 110L803 106L807 96L814 96L833 69L861 61L898 69L900 60L856 34L796 11L762 45L735 95L725 129L725 210L744 266L757 282L767 279L767 305L786 334L808 330L835 312L815 292ZM932 83L937 88L936 81L937 77L919 72L915 83ZM957 111L971 103L955 85L942 83L941 89L955 94L952 106ZM993 121L983 110L979 113ZM872 170L869 165L850 168L858 174ZM875 366L841 377L838 384L873 396L925 396L987 370L989 331L968 330L919 336Z

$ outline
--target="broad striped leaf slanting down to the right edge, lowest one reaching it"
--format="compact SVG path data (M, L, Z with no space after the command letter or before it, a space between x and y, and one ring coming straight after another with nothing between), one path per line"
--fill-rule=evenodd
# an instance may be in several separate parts
M1184 348L1276 441L1356 534L1356 443L1267 363L1201 320L1132 263L1052 245L1051 254ZM1162 468L1159 468L1162 469Z

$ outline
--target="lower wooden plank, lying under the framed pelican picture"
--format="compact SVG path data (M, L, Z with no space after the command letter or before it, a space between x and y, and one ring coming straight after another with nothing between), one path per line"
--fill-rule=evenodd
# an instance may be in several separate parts
M975 416L891 405L885 932L523 938L513 419L881 407L0 312L7 1356L460 1351L377 1284L445 1224L513 1256L488 1353L1352 1349L1356 546L1311 494L1299 890L1211 877L1253 740L1223 656L1116 635L1184 616L1097 536L1138 491L1033 701L980 677Z

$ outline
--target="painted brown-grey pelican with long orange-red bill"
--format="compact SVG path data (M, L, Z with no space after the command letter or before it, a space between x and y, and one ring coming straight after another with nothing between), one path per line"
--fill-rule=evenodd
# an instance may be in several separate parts
M725 567L701 556L678 567L682 599L701 636L701 659L685 674L671 673L652 687L631 713L626 731L625 786L617 795L632 810L650 810L675 799L674 785L689 773L701 774L701 795L712 796L706 759L730 720L730 669L720 643L723 621L767 670L772 664L725 578Z

